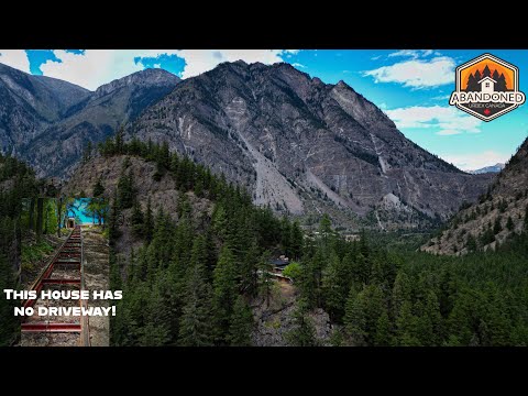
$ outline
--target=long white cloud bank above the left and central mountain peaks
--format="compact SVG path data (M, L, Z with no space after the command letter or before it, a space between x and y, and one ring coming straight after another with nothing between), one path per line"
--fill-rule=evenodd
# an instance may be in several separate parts
M86 50L84 54L54 50L61 59L47 61L41 66L45 76L61 78L88 89L142 70L144 65L135 58L177 55L186 63L183 78L194 77L215 68L222 62L242 59L246 63L273 64L299 50Z

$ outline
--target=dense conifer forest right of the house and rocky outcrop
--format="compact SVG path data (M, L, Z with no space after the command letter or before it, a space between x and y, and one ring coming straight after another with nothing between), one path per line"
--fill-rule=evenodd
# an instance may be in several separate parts
M528 230L464 257L387 252L323 230L304 250L299 315L324 308L341 324L334 344L528 345ZM301 323L298 344L317 342Z

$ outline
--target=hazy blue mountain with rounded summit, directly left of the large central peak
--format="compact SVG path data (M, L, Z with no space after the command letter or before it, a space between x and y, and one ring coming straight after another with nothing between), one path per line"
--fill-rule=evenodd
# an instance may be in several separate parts
M38 176L64 176L77 164L88 142L97 144L113 134L178 81L168 72L146 69L103 85L25 145L22 156Z

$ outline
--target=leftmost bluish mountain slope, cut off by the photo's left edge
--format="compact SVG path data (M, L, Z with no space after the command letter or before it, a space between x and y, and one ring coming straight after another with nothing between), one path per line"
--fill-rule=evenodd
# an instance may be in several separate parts
M89 94L76 85L0 64L0 152L16 154Z

